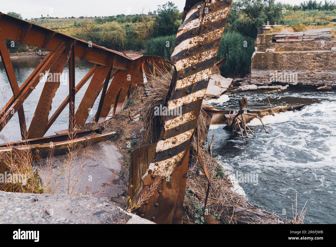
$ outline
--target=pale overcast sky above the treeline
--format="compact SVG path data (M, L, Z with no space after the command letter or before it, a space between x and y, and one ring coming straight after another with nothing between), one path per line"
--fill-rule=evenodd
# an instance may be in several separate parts
M110 16L117 14L141 13L146 6L145 13L154 11L158 5L169 0L0 0L0 12L14 11L23 18L53 16ZM170 0L182 11L185 0ZM29 3L28 3L29 2ZM303 0L281 0L284 3L299 4Z

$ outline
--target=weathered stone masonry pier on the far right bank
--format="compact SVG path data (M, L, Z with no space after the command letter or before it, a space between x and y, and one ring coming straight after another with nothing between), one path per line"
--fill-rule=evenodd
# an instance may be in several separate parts
M330 29L258 34L251 84L336 86L336 38Z

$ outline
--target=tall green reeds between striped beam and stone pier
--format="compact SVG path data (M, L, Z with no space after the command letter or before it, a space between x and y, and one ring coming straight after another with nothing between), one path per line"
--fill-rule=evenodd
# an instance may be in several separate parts
M220 41L217 60L226 56L219 68L223 76L245 75L250 71L254 52L254 39L240 33L224 33Z

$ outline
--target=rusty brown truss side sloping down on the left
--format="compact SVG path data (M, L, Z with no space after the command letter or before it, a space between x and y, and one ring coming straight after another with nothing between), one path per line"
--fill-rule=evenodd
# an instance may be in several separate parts
M46 48L50 52L35 68L31 75L19 87L10 61L5 39ZM75 102L75 94L92 77L79 107L74 113L70 109L69 116L75 116L75 124L84 125L89 112L103 89L98 111L93 121L104 121L109 114L123 107L123 103L135 86L142 86L143 71L146 76L155 75L155 69L170 70L169 64L161 57L126 54L92 44L53 30L26 22L0 12L0 55L4 64L13 96L0 112L0 131L18 112L22 136L26 130L23 103L41 81L41 74L49 71L41 96L36 102L36 110L28 129L29 138L42 137L65 109ZM70 59L69 59L70 57ZM94 64L93 68L75 86L75 57L83 58ZM69 95L49 118L52 99L59 87L59 77L69 62ZM109 81L112 83L109 88ZM117 92L117 93L116 93ZM112 110L111 110L112 108Z

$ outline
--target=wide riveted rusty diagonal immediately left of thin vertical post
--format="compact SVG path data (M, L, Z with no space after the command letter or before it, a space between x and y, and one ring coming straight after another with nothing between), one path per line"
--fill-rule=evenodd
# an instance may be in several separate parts
M68 43L66 49L51 66L44 83L40 99L38 101L32 122L29 126L28 137L42 137L46 133L49 113L51 111L52 99L60 85L60 78L65 65L68 63L70 51L74 42Z

